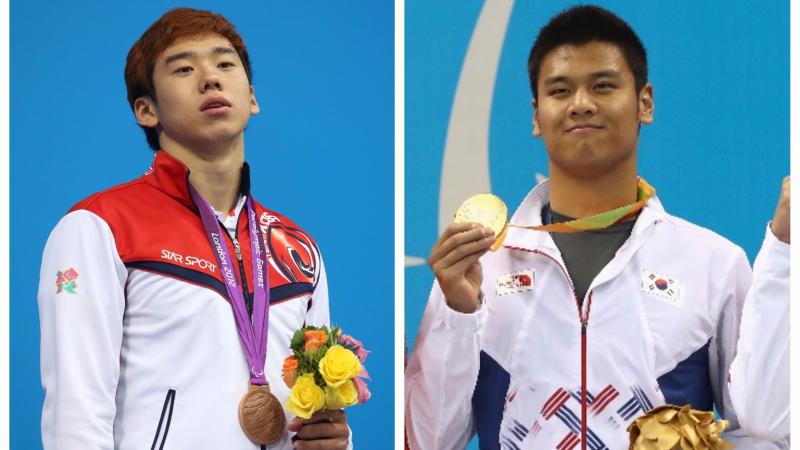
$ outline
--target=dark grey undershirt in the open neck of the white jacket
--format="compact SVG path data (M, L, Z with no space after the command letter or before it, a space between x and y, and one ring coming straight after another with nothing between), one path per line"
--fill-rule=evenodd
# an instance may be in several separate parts
M549 203L542 208L542 223L562 223L570 220L574 219L553 211ZM583 298L592 280L614 258L617 250L631 235L635 223L635 220L628 220L601 230L550 233L567 266L580 304L583 304Z

